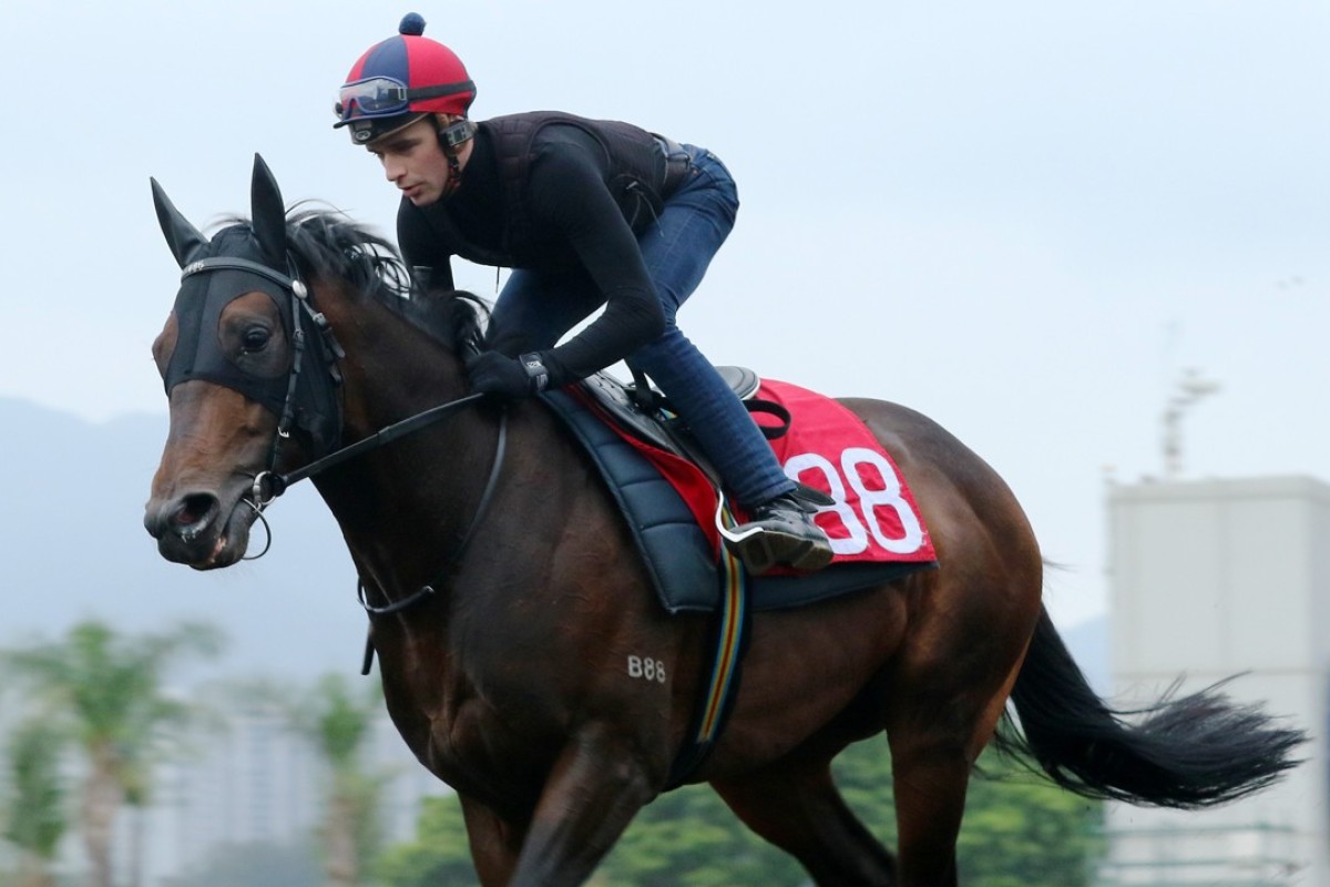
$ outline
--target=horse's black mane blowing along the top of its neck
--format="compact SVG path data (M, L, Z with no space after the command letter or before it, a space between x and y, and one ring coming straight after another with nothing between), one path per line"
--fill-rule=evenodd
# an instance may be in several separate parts
M245 218L227 221L250 226ZM483 342L489 319L487 302L462 291L418 293L398 247L346 214L298 203L286 217L286 241L302 274L342 281L444 347L466 351Z

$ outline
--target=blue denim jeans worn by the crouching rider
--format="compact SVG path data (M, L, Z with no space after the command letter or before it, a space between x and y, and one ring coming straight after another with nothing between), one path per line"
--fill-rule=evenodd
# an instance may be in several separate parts
M637 237L665 311L665 332L625 363L650 376L669 398L739 505L759 505L793 491L794 481L785 476L742 402L674 322L734 227L739 207L725 165L701 148L684 149L692 172L665 201L660 218ZM517 269L495 302L492 323L493 328L523 330L531 350L551 348L602 301L585 273Z

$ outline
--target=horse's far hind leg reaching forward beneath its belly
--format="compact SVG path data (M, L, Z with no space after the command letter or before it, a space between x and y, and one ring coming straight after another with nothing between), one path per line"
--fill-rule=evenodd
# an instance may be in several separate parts
M895 884L895 860L846 806L830 761L773 765L712 787L739 819L798 859L819 887Z

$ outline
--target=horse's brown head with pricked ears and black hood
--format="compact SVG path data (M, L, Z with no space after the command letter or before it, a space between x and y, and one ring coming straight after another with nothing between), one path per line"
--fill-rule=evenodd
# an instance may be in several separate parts
M336 346L309 303L282 195L254 158L253 222L203 237L153 181L182 269L153 356L170 432L144 524L162 556L198 569L239 560L258 516L255 477L338 443Z

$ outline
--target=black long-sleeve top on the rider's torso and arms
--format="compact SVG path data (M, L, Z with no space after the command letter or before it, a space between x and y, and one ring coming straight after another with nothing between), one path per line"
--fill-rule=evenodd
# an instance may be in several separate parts
M652 223L656 207L632 193L625 198L624 161L614 156L618 142L606 144L587 124L593 121L547 121L524 142L529 149L515 152L513 140L481 122L460 188L427 207L403 199L398 213L403 257L408 266L430 269L431 287L452 289L452 255L537 273L587 274L605 311L573 339L544 352L552 384L602 370L664 328L634 234L634 225L640 230ZM629 145L626 153L633 150ZM641 156L636 162L642 166ZM661 181L662 162L642 176L654 178L648 185ZM511 355L528 350L521 331L497 334L491 347Z

